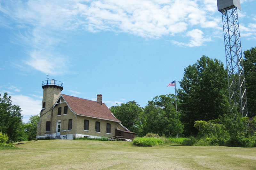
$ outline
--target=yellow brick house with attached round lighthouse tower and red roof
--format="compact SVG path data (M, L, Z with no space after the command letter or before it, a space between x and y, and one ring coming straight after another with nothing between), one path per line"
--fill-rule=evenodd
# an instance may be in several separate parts
M97 94L97 101L61 94L62 82L53 79L43 81L42 88L42 110L40 121L37 123L36 138L73 139L113 137L122 134L128 139L133 139L137 136L125 128L102 103L101 94Z

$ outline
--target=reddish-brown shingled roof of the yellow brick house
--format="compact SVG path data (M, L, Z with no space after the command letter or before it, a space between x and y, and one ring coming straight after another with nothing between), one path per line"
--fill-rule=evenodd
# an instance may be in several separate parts
M111 111L108 109L105 103L102 103L101 105L97 101L82 99L74 96L69 96L66 94L61 95L68 103L70 109L77 115L84 115L99 119L121 122L111 114Z

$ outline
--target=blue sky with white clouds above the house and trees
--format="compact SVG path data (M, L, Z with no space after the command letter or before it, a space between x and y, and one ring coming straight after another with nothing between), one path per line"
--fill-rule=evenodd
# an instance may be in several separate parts
M241 0L242 50L256 46L254 0ZM20 105L23 121L42 107L42 81L63 94L108 106L141 107L175 93L184 68L202 55L226 65L216 0L0 0L0 92Z

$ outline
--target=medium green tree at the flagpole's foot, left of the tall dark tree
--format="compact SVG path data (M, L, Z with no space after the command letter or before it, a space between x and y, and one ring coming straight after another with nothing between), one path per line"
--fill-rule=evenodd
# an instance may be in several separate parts
M144 109L145 122L143 132L157 133L165 136L176 136L183 131L183 125L180 122L180 113L176 113L175 96L166 94L154 97L148 101Z

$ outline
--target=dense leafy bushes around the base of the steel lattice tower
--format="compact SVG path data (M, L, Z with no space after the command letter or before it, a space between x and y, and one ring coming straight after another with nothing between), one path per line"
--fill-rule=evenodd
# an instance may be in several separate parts
M254 122L252 122L253 125ZM256 147L256 134L252 135L248 118L236 110L211 121L196 121L198 139L185 141L185 145ZM252 128L252 127L251 127Z

